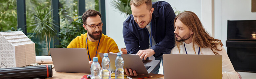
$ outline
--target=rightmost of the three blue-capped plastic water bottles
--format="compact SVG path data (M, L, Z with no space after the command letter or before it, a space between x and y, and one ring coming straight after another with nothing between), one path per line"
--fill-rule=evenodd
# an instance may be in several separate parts
M117 53L115 59L115 79L124 79L124 59L121 57L122 53Z

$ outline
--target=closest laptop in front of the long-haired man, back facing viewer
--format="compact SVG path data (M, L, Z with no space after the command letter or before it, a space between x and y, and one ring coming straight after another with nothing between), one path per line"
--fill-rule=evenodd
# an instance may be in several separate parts
M166 79L221 79L221 55L163 54Z

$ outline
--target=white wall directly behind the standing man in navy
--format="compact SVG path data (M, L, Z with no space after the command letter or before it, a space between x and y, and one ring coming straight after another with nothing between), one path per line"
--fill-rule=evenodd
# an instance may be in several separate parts
M159 0L170 3L172 7L179 11L192 11L199 19L201 19L201 0ZM114 9L111 0L106 0L106 31L107 36L114 39L119 50L125 47L123 39L123 22L127 17L121 14L117 9ZM105 24L105 23L104 23ZM121 51L120 51L121 52Z

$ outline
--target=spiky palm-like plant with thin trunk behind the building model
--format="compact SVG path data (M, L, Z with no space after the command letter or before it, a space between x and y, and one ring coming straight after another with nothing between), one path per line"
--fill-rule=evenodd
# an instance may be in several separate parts
M34 32L36 33L36 36L40 36L40 40L46 40L46 49L48 52L48 55L50 55L50 43L51 38L54 38L55 36L55 30L54 27L58 27L54 23L52 23L51 18L51 12L49 7L41 9L40 7L37 7L35 10L35 15L33 16L35 18L34 22L31 22L33 25L30 27L34 28ZM45 38L44 38L45 37ZM49 38L49 47L48 47L48 39Z

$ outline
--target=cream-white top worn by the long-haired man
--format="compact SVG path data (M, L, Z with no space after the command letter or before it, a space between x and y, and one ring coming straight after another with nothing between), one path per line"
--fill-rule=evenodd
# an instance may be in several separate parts
M180 45L180 54L186 54L185 48L184 48L184 43L182 43L182 45ZM195 44L195 52L193 50L192 47L192 43L186 44L186 50L188 54L198 54L198 50L199 47L197 44ZM228 57L228 54L225 50L224 47L222 47L221 45L217 45L217 49L221 49L222 51L217 51L213 48L213 51L217 52L218 54L222 55L222 79L239 79L239 75L235 72L235 69ZM214 55L214 53L212 52L212 50L210 48L200 48L200 55ZM179 50L177 48L177 45L172 49L171 54L179 54Z

